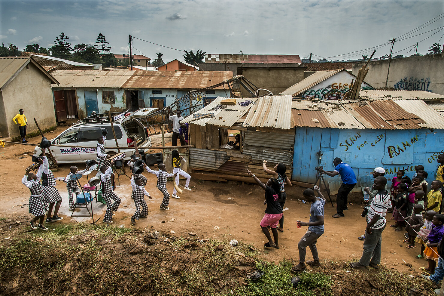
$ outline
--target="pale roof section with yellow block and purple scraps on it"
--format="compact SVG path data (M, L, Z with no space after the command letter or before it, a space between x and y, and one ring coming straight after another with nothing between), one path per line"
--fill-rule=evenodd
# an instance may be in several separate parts
M238 103L243 102L245 100L252 100L253 102L256 102L258 98L250 98L250 99L240 99L236 98L236 105L225 105L226 108L218 108L217 110L211 110L216 108L221 100L225 100L228 98L223 97L217 97L214 99L210 104L206 105L204 108L200 109L199 111L195 113L214 113L214 117L205 117L202 119L196 119L193 120L193 114L186 116L185 119L182 120L182 122L191 122L192 124L198 124L201 126L204 126L206 124L214 124L219 126L226 126L230 128L235 124L236 122L240 121L240 118L248 112L248 110L251 108L251 105L248 106L241 106ZM254 103L253 103L254 104ZM222 118L220 118L222 117ZM220 118L220 119L219 119ZM192 120L192 121L191 121Z

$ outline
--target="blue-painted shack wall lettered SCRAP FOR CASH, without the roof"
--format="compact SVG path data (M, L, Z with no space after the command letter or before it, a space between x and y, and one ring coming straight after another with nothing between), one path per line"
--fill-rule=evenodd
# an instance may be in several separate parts
M321 147L316 149L310 146L310 150L310 140L307 135L311 133L315 135L311 140L313 145L313 140L318 141L319 130L321 130ZM422 164L428 172L427 182L430 184L435 178L438 165L436 158L438 154L444 152L444 130L436 129L431 132L428 129L296 128L294 147L293 180L314 182L311 180L313 176L316 177L316 172L313 170L317 161L313 160L318 156L313 157L313 153L321 150L323 155L319 164L324 166L325 170L333 171L335 157L340 157L353 168L358 182L353 192L361 191L361 186L373 184L371 173L376 167L385 168L385 176L391 179L399 169L404 169L405 174L412 177L415 166ZM300 171L299 176L298 171ZM328 181L332 194L336 194L341 185L341 178L325 176L325 181Z

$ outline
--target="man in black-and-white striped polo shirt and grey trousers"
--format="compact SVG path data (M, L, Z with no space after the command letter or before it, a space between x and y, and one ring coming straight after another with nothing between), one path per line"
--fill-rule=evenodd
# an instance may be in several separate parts
M389 192L385 190L387 179L384 176L378 176L373 183L373 189L378 193L369 204L367 213L367 227L365 228L364 252L362 252L359 262L350 263L351 268L366 268L371 266L378 268L381 263L381 243L382 232L385 228L385 214L390 207Z

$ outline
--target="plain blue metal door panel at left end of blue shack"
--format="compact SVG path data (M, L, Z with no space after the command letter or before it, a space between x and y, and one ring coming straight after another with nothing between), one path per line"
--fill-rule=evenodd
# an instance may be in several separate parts
M314 184L321 150L321 128L296 128L294 136L293 173L295 181Z

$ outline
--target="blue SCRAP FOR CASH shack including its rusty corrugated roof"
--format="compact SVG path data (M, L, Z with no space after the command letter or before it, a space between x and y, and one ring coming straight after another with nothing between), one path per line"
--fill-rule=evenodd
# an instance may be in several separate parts
M424 165L428 183L434 180L436 158L444 152L444 116L433 108L441 95L408 91L362 91L360 101L294 100L296 126L292 180L313 184L315 167L333 171L340 157L357 176L354 192L373 182L376 167L387 178L404 169L412 177ZM325 177L335 194L337 177ZM390 182L389 182L390 184Z

